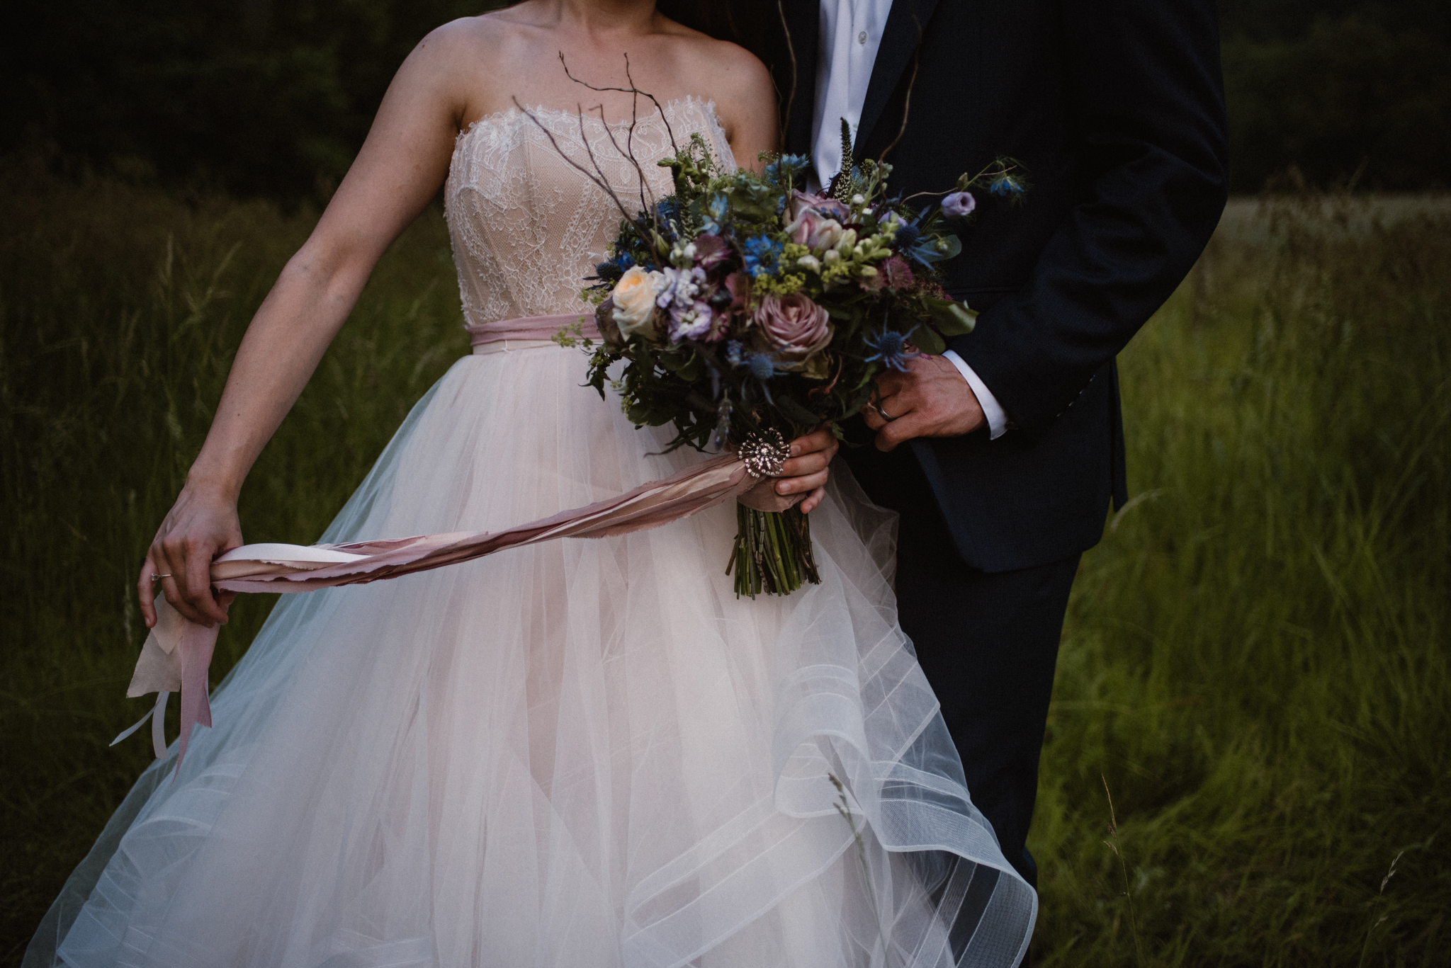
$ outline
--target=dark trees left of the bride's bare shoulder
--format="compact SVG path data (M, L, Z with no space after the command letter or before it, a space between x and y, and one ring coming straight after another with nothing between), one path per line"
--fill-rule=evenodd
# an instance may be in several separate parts
M428 30L499 0L10 0L0 151L326 197Z

